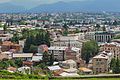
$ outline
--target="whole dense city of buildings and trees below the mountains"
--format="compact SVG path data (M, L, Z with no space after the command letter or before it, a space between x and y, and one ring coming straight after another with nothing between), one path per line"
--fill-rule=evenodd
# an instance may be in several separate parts
M119 73L120 13L0 14L0 78Z

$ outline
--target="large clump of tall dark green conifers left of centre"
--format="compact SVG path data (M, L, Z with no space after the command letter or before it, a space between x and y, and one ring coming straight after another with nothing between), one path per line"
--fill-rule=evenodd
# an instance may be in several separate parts
M26 53L37 52L37 46L46 44L50 46L50 34L44 30L31 30L26 34L26 41L23 51Z

